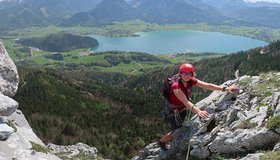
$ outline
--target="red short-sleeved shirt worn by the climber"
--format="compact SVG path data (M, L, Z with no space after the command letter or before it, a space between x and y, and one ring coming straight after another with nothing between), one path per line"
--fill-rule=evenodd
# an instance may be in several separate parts
M195 77L191 77L190 81L188 81L187 87L185 87L184 89L184 85L182 83L180 83L181 85L179 85L179 82L174 82L171 86L170 89L170 97L169 97L169 103L171 104L171 107L175 107L181 111L185 108L185 105L175 96L174 94L174 89L181 89L182 92L186 95L186 92L188 93L188 96L190 97L192 94L192 85L196 85L197 83L197 78Z

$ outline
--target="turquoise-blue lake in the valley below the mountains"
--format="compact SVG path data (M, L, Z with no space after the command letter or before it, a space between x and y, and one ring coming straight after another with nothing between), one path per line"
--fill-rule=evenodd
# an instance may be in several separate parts
M219 52L229 54L267 45L267 42L264 41L219 32L169 30L136 34L139 36L106 37L91 35L99 42L99 46L93 48L92 51L137 51L150 54Z

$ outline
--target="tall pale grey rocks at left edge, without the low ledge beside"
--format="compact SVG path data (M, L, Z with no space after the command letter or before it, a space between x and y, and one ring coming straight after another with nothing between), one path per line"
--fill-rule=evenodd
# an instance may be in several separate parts
M58 160L54 155L37 152L45 145L17 110L18 103L11 98L17 91L18 82L17 68L0 41L0 159Z

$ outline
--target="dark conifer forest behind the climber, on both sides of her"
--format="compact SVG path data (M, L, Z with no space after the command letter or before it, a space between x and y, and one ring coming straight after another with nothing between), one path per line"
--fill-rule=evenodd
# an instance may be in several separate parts
M142 59L147 60L157 61L152 56ZM194 62L194 66L199 79L220 84L233 79L236 70L240 75L280 71L279 62L277 41L265 48ZM15 99L45 143L84 142L97 147L105 158L127 159L166 131L162 81L180 64L149 68L143 74L108 72L110 66L103 66L104 72L84 65L71 69L17 65L21 82ZM195 88L192 98L197 102L208 93Z

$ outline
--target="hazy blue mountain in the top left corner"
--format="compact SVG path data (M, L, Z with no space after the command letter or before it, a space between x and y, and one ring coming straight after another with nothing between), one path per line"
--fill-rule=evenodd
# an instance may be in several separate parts
M59 24L75 13L88 11L101 0L11 0L0 2L0 28L14 29Z

